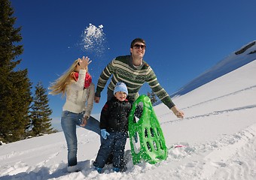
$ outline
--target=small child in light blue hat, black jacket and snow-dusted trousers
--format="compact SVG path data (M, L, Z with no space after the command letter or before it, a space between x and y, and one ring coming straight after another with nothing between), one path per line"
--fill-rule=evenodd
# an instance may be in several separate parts
M99 127L103 140L93 163L98 172L102 172L111 153L113 170L120 172L124 168L123 155L128 136L128 116L132 109L132 105L126 99L127 95L126 85L118 82L114 88L114 97L102 108Z

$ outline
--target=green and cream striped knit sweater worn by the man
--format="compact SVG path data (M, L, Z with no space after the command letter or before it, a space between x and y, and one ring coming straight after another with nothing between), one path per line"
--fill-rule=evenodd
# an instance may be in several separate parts
M127 86L129 98L132 101L136 101L136 98L139 97L139 89L146 82L163 104L166 104L169 108L174 107L175 104L173 104L168 93L158 83L156 74L154 74L148 63L142 61L142 65L135 68L132 62L133 58L131 55L114 58L102 71L97 83L95 96L100 97L109 77L112 75L111 82L108 85L108 90L111 90L111 92L114 92L114 86L117 82L123 82Z

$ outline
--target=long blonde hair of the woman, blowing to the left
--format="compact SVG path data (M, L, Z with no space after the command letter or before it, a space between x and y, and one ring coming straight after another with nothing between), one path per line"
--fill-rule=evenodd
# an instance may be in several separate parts
M73 62L71 67L62 74L54 83L51 83L49 89L52 90L49 92L50 95L59 95L62 94L62 97L65 95L66 86L72 83L74 79L72 78L72 74L75 72L75 68L78 65L78 59Z

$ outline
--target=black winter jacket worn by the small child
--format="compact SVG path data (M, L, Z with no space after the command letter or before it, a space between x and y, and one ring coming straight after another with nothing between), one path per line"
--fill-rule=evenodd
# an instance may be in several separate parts
M111 98L102 108L99 127L106 129L109 133L127 132L131 109L132 104L129 101L118 101L115 97Z

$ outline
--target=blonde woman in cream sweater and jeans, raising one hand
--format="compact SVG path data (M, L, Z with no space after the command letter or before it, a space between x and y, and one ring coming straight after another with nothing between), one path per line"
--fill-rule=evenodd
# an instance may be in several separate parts
M78 171L78 139L76 125L100 135L99 121L90 117L93 109L95 86L88 73L89 58L78 58L68 71L53 83L51 95L66 94L62 108L61 125L68 145L68 172Z

